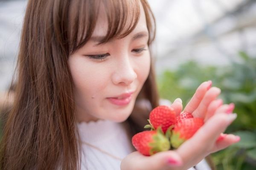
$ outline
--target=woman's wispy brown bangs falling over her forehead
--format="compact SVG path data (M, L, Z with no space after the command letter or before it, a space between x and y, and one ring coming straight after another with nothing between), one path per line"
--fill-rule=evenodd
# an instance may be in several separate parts
M139 0L73 0L69 11L70 53L90 40L96 27L99 10L102 9L100 7L105 9L108 30L99 44L130 34L140 18L139 3Z

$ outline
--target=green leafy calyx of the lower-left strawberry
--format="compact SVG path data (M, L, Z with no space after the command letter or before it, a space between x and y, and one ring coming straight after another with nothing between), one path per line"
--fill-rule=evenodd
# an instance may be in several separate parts
M161 127L157 128L157 133L153 136L153 142L150 142L148 145L151 147L150 155L170 149L170 142L164 135Z

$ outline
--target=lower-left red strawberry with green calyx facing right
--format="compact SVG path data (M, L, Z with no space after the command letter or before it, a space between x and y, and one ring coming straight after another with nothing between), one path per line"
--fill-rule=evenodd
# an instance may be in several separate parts
M157 152L170 149L170 142L163 135L163 132L157 130L146 130L135 134L131 141L134 147L143 155L151 156Z

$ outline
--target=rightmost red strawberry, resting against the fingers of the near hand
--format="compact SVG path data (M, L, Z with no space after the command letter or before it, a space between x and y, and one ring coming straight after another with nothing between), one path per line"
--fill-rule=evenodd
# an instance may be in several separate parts
M172 130L171 144L174 148L177 148L191 138L195 132L204 125L204 119L202 118L189 118L182 119L178 122Z

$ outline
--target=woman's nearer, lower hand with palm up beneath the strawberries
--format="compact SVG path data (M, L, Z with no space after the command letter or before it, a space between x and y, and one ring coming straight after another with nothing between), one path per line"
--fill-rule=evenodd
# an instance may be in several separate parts
M121 170L187 170L209 153L238 142L234 135L227 135L223 140L215 142L234 119L233 114L216 113L177 150L159 152L153 156L133 152L122 160Z

